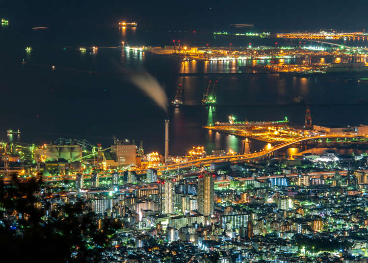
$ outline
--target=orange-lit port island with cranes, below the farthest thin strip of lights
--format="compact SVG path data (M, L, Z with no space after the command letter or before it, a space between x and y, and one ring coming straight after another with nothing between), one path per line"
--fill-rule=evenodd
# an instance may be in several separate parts
M330 43L328 43L330 44ZM326 44L327 45L327 44ZM237 73L334 74L368 72L368 49L332 46L296 47L145 47L145 52L173 55L190 61L239 62Z

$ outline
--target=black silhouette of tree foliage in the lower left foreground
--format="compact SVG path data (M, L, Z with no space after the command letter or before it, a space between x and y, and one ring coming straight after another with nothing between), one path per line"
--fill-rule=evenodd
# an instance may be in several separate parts
M96 262L119 224L99 229L85 203L52 205L42 177L10 184L0 180L0 247L13 262ZM34 193L40 192L40 197ZM121 226L121 225L120 225Z

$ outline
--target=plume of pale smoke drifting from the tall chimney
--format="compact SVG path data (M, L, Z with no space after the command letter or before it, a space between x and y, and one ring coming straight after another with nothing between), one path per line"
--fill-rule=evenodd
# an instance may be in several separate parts
M167 113L167 96L163 87L149 73L141 73L130 76L131 82L140 88L148 97L150 97L158 106Z

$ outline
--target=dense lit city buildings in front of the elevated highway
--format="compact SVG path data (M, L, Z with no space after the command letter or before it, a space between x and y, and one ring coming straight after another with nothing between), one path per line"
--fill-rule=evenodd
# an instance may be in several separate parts
M109 261L367 262L366 157L346 170L286 161L212 168L171 176L151 168L133 186L116 172L108 190L84 187L53 202L82 200L101 228L106 218L121 223L102 255Z

